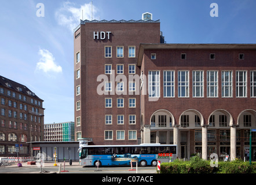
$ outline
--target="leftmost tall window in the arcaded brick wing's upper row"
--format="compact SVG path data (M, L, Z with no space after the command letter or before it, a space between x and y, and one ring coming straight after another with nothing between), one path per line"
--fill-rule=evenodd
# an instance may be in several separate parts
M159 71L148 71L149 97L160 97L160 74Z

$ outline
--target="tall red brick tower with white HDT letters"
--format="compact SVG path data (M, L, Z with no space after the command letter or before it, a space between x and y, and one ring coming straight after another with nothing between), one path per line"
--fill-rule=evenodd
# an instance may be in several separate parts
M161 39L159 21L81 20L74 32L76 138L96 145L141 142L140 81L120 79L139 77L139 44Z

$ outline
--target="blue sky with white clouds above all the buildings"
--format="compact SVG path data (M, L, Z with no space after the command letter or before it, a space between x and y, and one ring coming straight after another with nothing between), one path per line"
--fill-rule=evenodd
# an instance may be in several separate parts
M91 20L86 0L9 0L0 5L0 75L44 100L45 123L74 121L73 32ZM38 3L45 16L38 17ZM218 17L211 17L211 3ZM93 19L160 20L167 43L256 43L255 0L94 0Z

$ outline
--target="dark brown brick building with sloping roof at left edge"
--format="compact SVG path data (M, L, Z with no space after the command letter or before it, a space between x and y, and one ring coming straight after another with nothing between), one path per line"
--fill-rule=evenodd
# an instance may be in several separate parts
M43 100L23 84L0 76L0 156L30 156L27 142L43 140Z

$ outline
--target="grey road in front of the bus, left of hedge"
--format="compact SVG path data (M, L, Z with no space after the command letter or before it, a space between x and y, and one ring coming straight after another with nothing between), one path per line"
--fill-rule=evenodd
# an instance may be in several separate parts
M39 165L27 165L26 162L21 163L23 166L17 166L17 162L11 166L1 166L0 173L40 173L41 168ZM61 168L60 168L61 165ZM60 173L133 173L136 174L136 170L130 171L130 166L103 166L101 168L95 167L85 167L74 162L72 165L65 164L65 172ZM136 166L133 166L133 169L136 169ZM59 173L59 171L64 171L63 162L57 163L57 166L54 166L53 162L45 162L42 167L42 171L46 173ZM156 173L156 167L146 166L137 168L137 173Z

